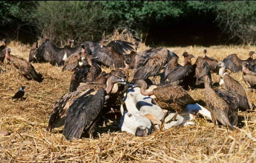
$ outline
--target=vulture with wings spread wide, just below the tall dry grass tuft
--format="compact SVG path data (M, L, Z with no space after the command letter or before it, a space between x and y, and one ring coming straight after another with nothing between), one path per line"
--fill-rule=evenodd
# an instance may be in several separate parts
M128 57L124 50L133 50L133 45L127 41L114 40L108 45L92 50L92 55L98 57L98 61L108 67L123 67L124 59Z

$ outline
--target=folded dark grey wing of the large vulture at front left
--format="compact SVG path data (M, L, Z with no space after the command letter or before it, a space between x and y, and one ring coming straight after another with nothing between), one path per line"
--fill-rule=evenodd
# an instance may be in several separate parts
M66 139L80 138L83 130L97 122L105 102L105 90L101 88L95 95L83 95L73 100L67 110L63 135Z

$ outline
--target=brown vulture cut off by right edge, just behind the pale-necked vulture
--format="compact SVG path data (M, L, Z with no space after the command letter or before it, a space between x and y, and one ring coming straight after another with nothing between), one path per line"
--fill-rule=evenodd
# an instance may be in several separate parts
M242 78L249 88L256 88L256 73L249 70L249 63L242 63Z

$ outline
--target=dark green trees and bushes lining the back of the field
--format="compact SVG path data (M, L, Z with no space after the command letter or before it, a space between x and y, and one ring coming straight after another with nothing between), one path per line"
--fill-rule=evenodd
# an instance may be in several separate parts
M0 6L1 37L26 37L30 43L39 37L58 45L68 37L99 41L117 27L171 45L205 42L201 37L211 33L216 39L214 30L240 43L256 40L256 1L0 1Z

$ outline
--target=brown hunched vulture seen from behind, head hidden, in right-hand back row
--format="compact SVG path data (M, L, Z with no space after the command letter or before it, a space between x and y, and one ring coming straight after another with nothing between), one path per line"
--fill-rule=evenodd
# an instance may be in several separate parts
M199 81L198 78L203 75L208 75L211 81L211 71L208 63L202 57L197 57L196 62L193 64L193 73L194 73L194 86L200 86L202 81ZM194 87L193 86L193 87Z

